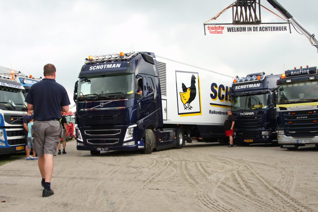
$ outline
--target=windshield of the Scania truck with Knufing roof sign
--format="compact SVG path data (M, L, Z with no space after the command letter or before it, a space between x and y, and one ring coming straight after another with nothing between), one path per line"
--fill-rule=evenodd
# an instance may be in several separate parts
M317 80L288 83L279 86L278 103L314 102L318 100Z

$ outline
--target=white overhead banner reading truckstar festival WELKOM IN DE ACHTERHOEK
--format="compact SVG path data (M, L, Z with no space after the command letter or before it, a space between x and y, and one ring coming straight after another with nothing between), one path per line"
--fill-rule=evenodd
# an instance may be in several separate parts
M248 35L290 33L289 23L275 24L204 24L205 35Z

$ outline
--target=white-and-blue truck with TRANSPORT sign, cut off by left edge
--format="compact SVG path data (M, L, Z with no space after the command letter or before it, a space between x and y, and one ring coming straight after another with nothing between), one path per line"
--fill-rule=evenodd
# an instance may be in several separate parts
M24 151L23 117L27 107L15 71L0 66L0 158Z

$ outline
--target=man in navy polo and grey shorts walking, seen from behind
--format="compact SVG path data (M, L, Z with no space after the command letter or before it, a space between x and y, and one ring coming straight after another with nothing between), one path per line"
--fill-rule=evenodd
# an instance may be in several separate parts
M44 66L44 79L32 85L25 102L28 110L34 109L33 148L38 154L38 166L44 187L42 196L54 194L51 189L53 155L62 136L59 123L61 111L67 112L70 100L65 88L55 81L56 69L52 64Z

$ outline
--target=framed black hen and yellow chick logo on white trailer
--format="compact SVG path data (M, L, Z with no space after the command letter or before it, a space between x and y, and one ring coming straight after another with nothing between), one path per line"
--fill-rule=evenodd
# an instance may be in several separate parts
M197 72L176 71L178 115L201 115L200 78Z

